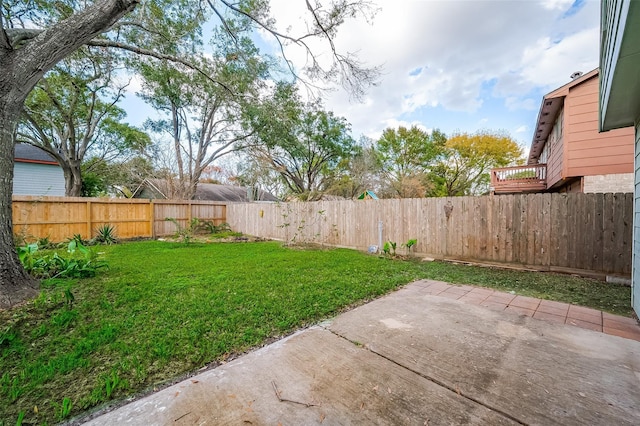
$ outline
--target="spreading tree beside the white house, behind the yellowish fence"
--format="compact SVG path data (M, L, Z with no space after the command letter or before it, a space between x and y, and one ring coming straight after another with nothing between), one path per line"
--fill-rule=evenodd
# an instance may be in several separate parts
M84 48L61 61L29 94L17 140L53 156L64 172L65 193L82 195L82 162L86 156L104 159L144 150L150 139L123 123L116 105L124 86L114 87L115 59L95 48Z

